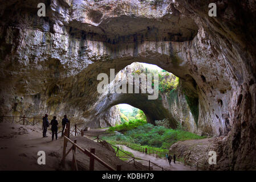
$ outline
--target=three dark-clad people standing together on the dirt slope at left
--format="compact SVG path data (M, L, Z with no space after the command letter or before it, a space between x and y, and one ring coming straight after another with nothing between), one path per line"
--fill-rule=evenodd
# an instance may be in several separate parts
M54 116L54 118L51 120L51 122L49 123L48 121L48 114L45 114L43 117L43 137L48 137L46 135L47 132L47 127L49 127L51 125L51 132L52 132L52 140L54 140L54 135L56 140L58 139L58 121L56 120L56 116ZM63 137L63 132L65 129L65 126L67 125L67 123L70 123L70 121L67 119L67 115L64 115L64 118L62 119L62 137Z

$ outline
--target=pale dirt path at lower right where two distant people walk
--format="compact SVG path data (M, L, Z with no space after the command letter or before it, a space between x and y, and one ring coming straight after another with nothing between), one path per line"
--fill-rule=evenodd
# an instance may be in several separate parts
M162 167L164 167L164 169L169 170L169 171L196 171L195 168L186 167L182 163L178 164L177 161L176 161L176 164L174 164L173 160L172 160L172 163L170 163L170 165L169 165L169 162L165 161L165 159L159 159L159 158L156 158L155 156L143 154L142 152L133 150L133 149L127 147L127 146L123 146L123 145L119 145L119 146L123 147L123 149L125 151L132 152L132 154L135 157L145 159L145 160L150 160L151 162L156 163L157 165L162 166ZM143 165L148 166L147 161L137 160L137 162L140 162ZM161 170L161 168L153 165L153 170L158 171L158 170Z

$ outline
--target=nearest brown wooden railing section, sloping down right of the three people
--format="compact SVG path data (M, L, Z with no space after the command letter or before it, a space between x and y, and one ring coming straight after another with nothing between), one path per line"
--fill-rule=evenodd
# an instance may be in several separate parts
M70 153L70 151L72 150L72 154L73 154L73 159L72 159L72 167L74 170L78 171L78 165L76 163L76 148L83 152L83 154L86 154L87 156L90 157L90 171L94 171L94 162L95 160L97 162L99 162L100 164L102 164L104 167L108 168L111 171L119 171L121 170L121 166L117 166L116 169L109 166L107 163L105 163L102 159L100 159L98 156L95 155L95 148L91 148L91 150L87 150L86 148L82 148L80 146L78 146L78 144L76 144L76 140L74 140L74 142L68 137L68 123L64 129L64 143L63 143L63 156L62 156L62 165L65 165L65 159L66 156ZM70 142L72 144L72 147L68 150L68 152L66 153L66 148L67 148L67 143Z

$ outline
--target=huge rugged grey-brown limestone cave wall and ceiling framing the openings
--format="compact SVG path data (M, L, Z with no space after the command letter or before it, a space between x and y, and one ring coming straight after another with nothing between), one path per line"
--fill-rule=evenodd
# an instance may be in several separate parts
M46 17L37 16L40 2ZM192 130L226 136L218 143L221 168L255 169L256 5L218 1L210 17L210 2L0 1L0 114L67 114L102 126L96 103L107 98L97 93L97 75L156 64L198 102ZM182 105L173 106L175 117Z

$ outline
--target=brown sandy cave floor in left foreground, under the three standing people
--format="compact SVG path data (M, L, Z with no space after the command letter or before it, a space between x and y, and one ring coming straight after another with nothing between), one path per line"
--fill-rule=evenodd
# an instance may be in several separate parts
M51 133L47 131L47 138L42 138L42 129L39 126L19 125L15 123L0 123L0 170L71 170L72 155L68 154L66 166L59 165L63 152L63 137L58 140L51 140ZM115 153L106 150L101 144L86 137L72 137L77 139L79 146L83 148L96 149L96 155L100 156L110 166L121 165L122 170L147 170L145 167L133 167L123 160L117 158ZM68 143L67 150L71 147ZM46 152L46 164L39 165L38 151ZM90 159L82 152L76 152L78 168L88 170ZM100 163L95 161L95 170L107 170Z

